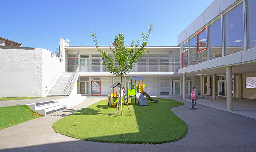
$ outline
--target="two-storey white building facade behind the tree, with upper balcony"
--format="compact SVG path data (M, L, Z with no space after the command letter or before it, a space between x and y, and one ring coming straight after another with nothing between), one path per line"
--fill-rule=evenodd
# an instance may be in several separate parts
M60 44L63 42L64 39L60 39ZM63 47L60 46L60 50L65 50L65 71L74 72L78 67L77 94L107 96L109 87L120 82L120 77L110 73L101 63L100 53L95 46ZM110 47L114 48L100 46L100 49L112 56ZM123 77L124 87L130 88L131 76L142 76L144 91L149 95L181 95L182 75L177 74L180 69L180 47L147 46L146 49L147 52L134 64L134 68Z

